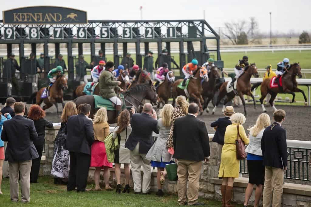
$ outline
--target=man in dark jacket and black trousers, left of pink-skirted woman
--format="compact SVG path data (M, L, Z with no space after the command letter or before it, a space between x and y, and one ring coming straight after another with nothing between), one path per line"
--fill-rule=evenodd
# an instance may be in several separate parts
M67 191L76 187L77 192L85 191L91 163L91 146L94 142L93 122L88 118L90 111L91 105L82 104L80 114L70 116L65 128L65 149L70 156Z

